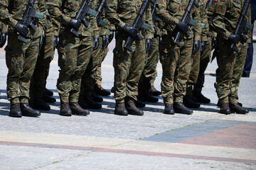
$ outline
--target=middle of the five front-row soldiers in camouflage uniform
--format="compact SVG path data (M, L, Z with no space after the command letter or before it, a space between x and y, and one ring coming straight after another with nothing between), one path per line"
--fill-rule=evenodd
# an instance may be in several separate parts
M132 42L133 52L123 48L128 35L135 37L138 32L131 27L135 21L142 0L109 0L106 18L116 26L116 47L113 50L113 67L115 69L114 99L116 100L115 114L143 115L134 102L138 96L138 81L145 67L145 43L153 37L153 24L150 8L145 12L143 21L150 24L150 30L142 30L143 40L135 38Z

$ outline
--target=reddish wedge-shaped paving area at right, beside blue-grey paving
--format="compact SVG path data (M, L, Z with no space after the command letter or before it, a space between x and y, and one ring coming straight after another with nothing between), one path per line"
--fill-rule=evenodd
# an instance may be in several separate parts
M235 125L181 141L182 144L256 149L256 125Z

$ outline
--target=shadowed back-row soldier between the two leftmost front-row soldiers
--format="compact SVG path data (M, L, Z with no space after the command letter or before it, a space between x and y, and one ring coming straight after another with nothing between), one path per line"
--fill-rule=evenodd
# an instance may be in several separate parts
M45 93L46 79L48 77L50 62L54 57L54 28L49 13L47 12L47 5L45 0L40 1L42 8L41 13L45 14L46 23L40 23L40 27L44 30L43 42L40 48L37 64L35 65L35 72L30 84L30 97L32 99L33 108L49 111L50 106L43 100Z

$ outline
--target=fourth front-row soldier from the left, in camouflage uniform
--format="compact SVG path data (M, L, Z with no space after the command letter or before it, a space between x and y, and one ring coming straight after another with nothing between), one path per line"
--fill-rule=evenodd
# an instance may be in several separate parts
M162 37L163 43L160 44L160 62L163 69L161 89L165 103L164 113L191 114L193 111L184 106L183 97L186 94L186 83L191 70L192 47L196 40L200 40L201 25L191 27L181 21L189 0L161 0L158 3L160 10L157 11L157 16L165 22L167 29L167 35ZM194 7L191 12L191 18L197 17L200 17L200 13ZM182 31L180 38L182 47L174 44L177 30ZM184 35L187 30L191 33L189 38Z

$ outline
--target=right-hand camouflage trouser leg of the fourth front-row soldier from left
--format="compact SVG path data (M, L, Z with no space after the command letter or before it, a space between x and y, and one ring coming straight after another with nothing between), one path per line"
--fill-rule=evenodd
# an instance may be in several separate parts
M192 65L193 39L184 40L174 75L174 102L182 103Z

